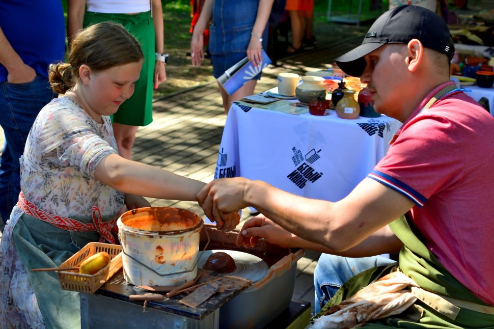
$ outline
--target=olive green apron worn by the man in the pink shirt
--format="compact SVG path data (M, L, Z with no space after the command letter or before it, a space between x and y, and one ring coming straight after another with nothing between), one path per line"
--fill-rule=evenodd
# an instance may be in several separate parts
M399 254L400 270L413 279L420 291L414 306L389 318L369 322L365 327L398 328L494 328L494 308L487 306L456 280L421 242L420 234L405 216L390 223L404 243ZM315 318L361 288L388 274L396 264L370 268L348 280ZM431 294L430 292L434 293Z

